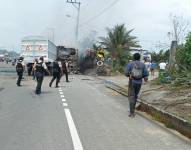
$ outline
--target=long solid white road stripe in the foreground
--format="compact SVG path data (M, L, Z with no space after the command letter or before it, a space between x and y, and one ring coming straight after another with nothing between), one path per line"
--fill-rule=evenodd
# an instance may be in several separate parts
M64 110L65 110L66 119L68 122L68 127L70 129L70 134L72 137L74 150L83 150L82 143L80 141L80 137L78 135L70 110L69 109L64 109Z

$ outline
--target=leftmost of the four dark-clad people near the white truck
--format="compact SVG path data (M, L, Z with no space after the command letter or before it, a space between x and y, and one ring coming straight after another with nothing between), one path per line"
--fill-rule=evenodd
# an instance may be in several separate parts
M25 70L25 64L23 62L23 57L20 57L19 60L17 61L17 65L16 65L16 71L17 71L17 75L18 75L17 86L21 86L21 80L23 78L24 70Z

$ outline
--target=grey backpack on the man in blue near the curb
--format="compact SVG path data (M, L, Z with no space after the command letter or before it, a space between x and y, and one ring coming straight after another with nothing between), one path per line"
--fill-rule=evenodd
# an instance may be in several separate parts
M143 77L143 71L141 68L141 64L134 63L133 68L131 70L131 77L135 80L142 79Z

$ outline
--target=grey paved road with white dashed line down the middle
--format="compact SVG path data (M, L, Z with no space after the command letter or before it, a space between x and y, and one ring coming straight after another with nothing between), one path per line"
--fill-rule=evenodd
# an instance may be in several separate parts
M93 77L74 76L34 94L35 82L4 81L0 90L1 150L190 150L140 116L128 117L127 98Z

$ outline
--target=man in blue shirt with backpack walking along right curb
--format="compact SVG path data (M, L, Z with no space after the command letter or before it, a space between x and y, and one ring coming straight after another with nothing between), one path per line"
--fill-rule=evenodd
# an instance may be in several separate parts
M134 61L129 62L125 68L125 75L129 77L128 99L130 106L129 117L135 116L135 106L141 89L142 79L147 82L149 72L144 63L140 61L140 54L133 55Z

